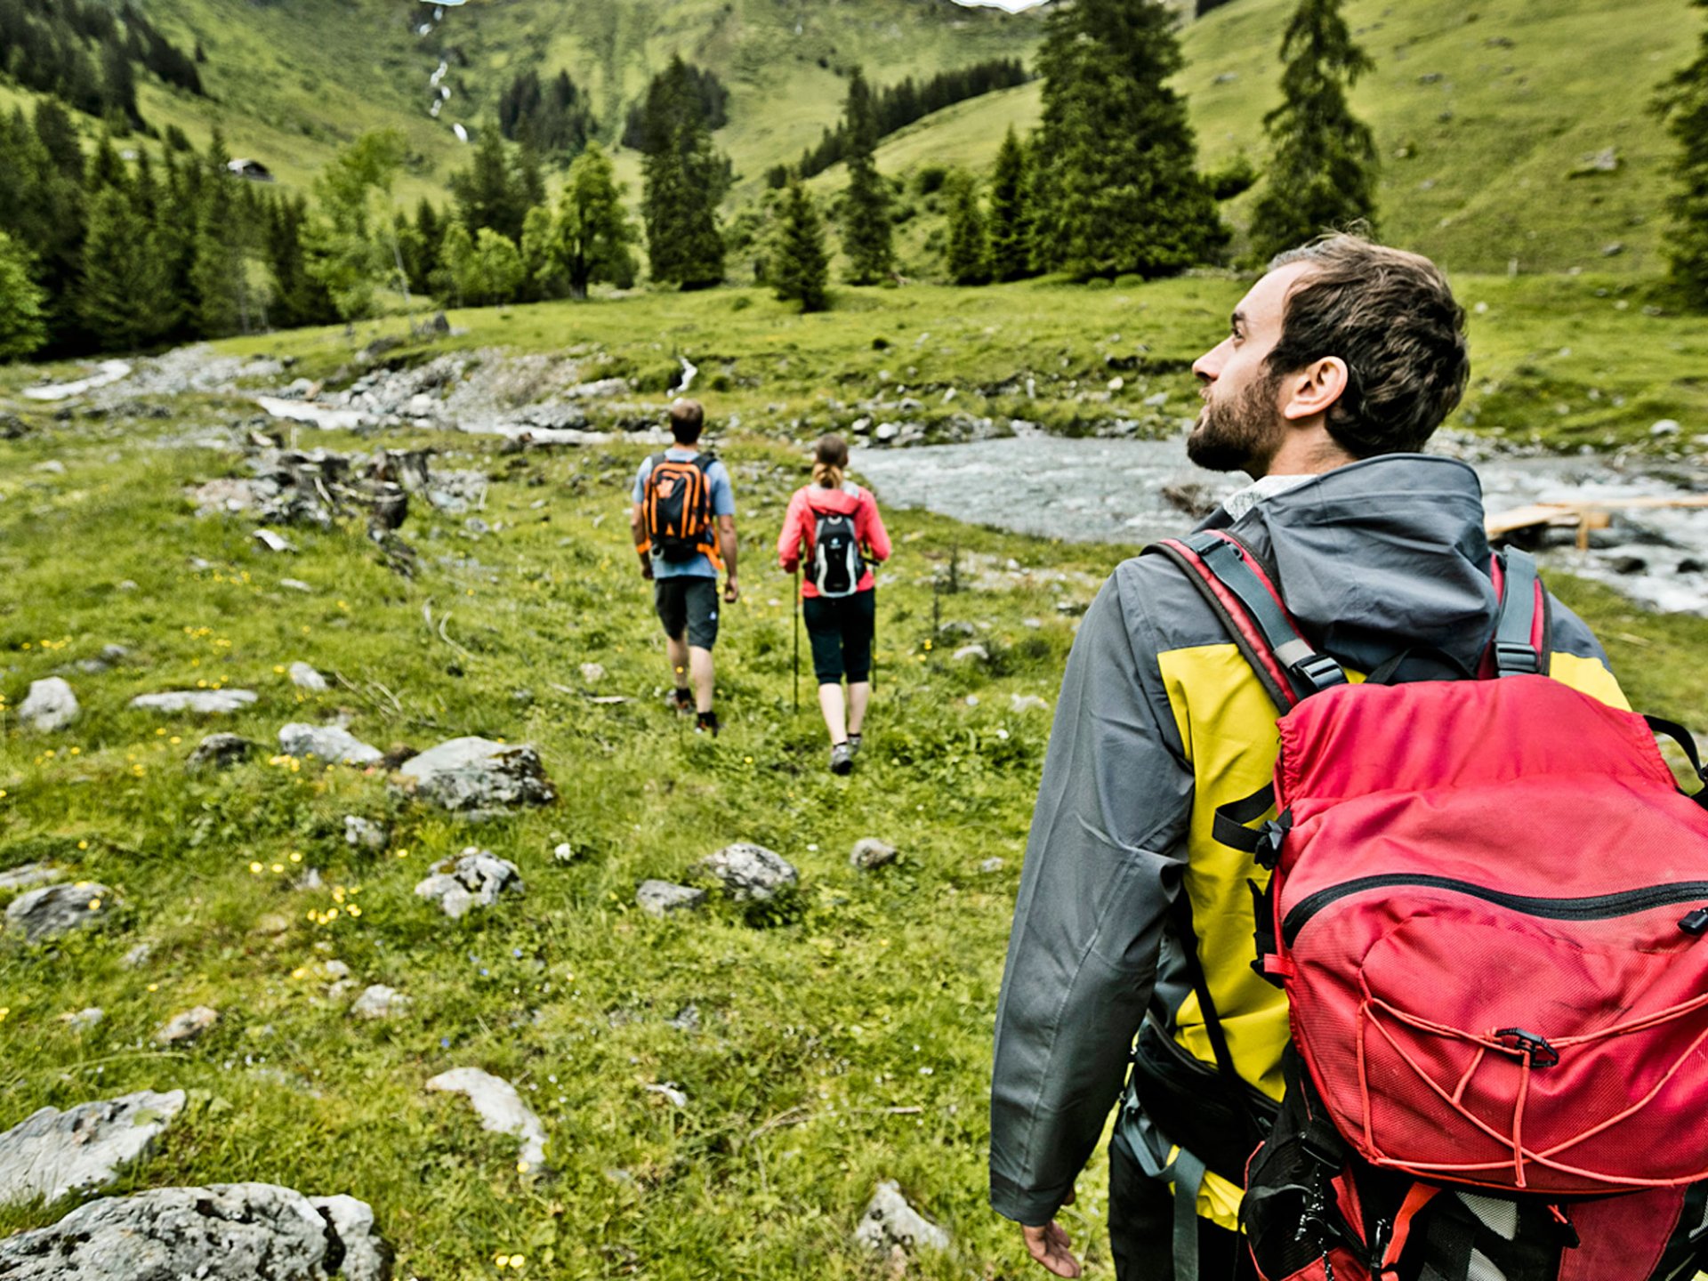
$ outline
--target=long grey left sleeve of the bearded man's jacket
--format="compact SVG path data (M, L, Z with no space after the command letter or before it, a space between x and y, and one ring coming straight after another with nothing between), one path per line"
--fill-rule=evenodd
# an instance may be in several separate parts
M996 1011L991 1204L1032 1226L1120 1093L1184 869L1192 772L1141 586L1120 567L1068 659Z

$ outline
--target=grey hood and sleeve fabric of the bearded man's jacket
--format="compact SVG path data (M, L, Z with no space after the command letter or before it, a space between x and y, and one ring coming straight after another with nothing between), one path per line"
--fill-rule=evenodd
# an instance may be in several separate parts
M1476 670L1491 637L1483 495L1464 463L1372 458L1238 521L1218 511L1204 528L1228 528L1266 560L1307 635L1349 668L1421 640ZM1549 620L1556 656L1595 663L1611 687L1588 629L1558 601ZM1196 779L1163 659L1226 640L1184 572L1148 555L1103 584L1068 659L996 1016L991 1204L1020 1223L1054 1216L1120 1093L1146 1009L1172 1028L1187 991L1163 958L1179 956L1167 915ZM1194 736L1216 733L1274 729L1192 724Z

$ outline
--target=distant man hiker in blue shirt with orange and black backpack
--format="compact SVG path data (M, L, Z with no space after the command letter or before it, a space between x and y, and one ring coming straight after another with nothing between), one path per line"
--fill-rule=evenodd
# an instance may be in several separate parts
M729 470L699 447L705 410L697 400L670 407L675 444L652 454L635 477L629 528L640 553L640 577L664 625L675 687L670 707L695 712L695 729L717 734L712 711L712 646L717 644L717 570L724 601L736 584L736 495ZM692 692L690 692L692 685Z

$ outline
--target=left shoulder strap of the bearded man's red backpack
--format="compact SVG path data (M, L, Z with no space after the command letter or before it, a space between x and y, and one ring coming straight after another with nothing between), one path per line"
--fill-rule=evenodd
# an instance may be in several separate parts
M1281 712L1346 683L1341 664L1300 634L1269 572L1233 535L1201 529L1144 552L1167 555L1185 570Z

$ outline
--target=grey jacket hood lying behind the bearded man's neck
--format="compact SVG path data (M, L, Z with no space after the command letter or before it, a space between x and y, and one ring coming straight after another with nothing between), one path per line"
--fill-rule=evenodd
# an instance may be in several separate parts
M1476 671L1494 630L1483 485L1457 459L1366 458L1206 528L1262 557L1307 635L1361 671L1407 644Z

